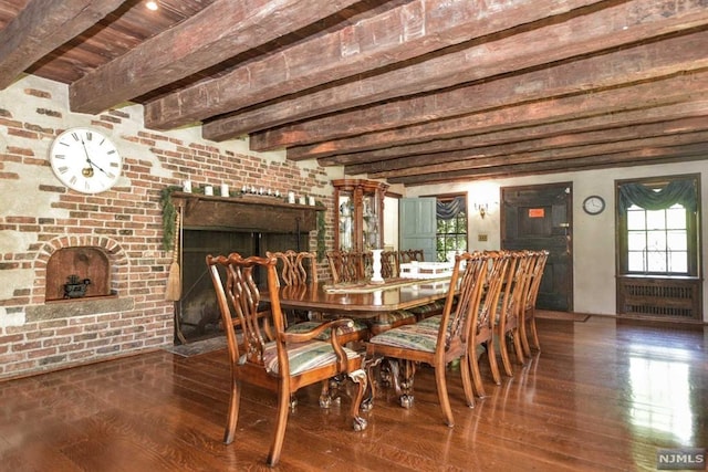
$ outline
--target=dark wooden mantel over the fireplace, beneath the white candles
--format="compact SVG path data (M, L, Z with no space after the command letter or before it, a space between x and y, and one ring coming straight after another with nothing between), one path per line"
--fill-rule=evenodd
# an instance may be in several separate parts
M231 229L238 231L294 233L314 231L321 206L288 203L267 196L212 197L176 191L175 207L184 209L186 229Z

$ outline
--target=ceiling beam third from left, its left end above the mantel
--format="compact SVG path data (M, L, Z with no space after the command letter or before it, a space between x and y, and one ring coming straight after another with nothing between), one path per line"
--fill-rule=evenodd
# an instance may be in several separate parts
M346 77L356 76L358 82L363 71L421 56L587 3L592 1L414 0L148 103L145 123L150 128L164 129ZM295 109L273 106L279 114ZM267 109L271 107L267 106ZM235 127L231 137L244 134L241 132L244 129Z

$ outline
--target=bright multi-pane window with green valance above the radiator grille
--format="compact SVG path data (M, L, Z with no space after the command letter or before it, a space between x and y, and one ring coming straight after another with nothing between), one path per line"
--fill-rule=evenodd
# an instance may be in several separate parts
M698 272L697 177L618 183L620 273Z

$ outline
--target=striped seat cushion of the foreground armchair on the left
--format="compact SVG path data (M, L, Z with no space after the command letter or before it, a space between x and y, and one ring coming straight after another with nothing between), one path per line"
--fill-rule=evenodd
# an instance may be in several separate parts
M356 352L347 347L344 347L344 352L348 359L358 357ZM299 375L305 370L312 370L336 363L336 354L334 354L334 349L329 342L313 339L290 348L288 350L288 359L290 363L290 375ZM241 356L239 360L239 364L243 363L246 363L246 355ZM268 374L273 376L278 375L278 348L274 342L264 345L263 364L266 365Z

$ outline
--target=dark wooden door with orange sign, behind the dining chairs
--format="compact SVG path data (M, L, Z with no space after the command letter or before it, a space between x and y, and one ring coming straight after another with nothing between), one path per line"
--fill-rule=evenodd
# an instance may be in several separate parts
M501 189L501 247L550 252L537 306L573 310L572 183Z

